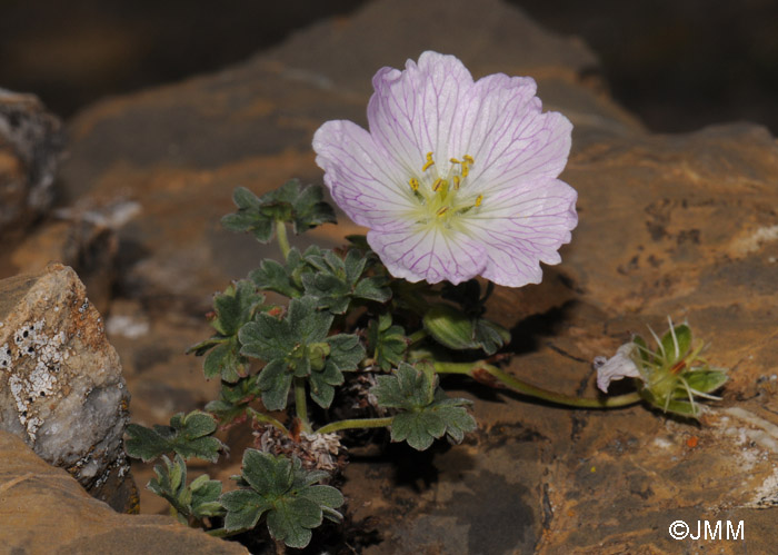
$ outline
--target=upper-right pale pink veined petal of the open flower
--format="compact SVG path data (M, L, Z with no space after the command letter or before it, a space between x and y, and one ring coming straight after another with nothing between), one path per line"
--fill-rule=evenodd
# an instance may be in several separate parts
M531 78L505 75L470 89L452 146L475 158L470 184L479 191L555 178L565 168L572 125L561 113L541 113L535 91Z

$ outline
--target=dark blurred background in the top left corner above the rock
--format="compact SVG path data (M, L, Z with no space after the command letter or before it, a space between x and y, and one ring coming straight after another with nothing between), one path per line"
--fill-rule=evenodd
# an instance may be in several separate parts
M365 0L0 3L0 87L60 117L107 95L216 71Z

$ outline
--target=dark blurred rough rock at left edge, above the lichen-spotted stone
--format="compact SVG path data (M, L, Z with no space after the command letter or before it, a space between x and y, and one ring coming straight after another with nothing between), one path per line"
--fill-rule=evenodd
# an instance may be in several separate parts
M6 239L51 206L60 128L37 97L0 89L0 234Z

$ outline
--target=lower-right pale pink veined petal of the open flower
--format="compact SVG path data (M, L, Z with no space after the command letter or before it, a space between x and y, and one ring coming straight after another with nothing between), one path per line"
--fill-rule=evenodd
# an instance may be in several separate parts
M559 264L559 247L570 242L577 198L558 179L487 197L481 211L467 220L470 235L487 246L482 276L509 287L539 284L540 262Z

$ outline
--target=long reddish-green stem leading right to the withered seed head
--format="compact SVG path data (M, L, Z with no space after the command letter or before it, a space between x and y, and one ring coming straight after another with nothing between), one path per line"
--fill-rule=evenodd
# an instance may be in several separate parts
M497 380L511 389L529 397L581 408L616 408L639 403L642 398L638 392L619 395L617 397L602 397L599 399L571 397L560 393L549 392L527 384L510 374L500 370L498 367L483 361L478 363L435 363L435 371L438 374L465 374L479 381ZM486 374L486 375L485 375Z

